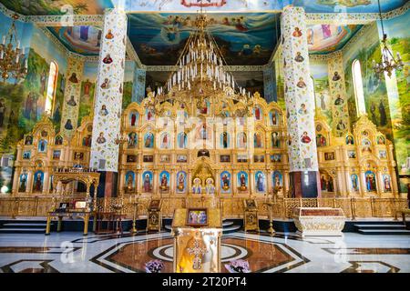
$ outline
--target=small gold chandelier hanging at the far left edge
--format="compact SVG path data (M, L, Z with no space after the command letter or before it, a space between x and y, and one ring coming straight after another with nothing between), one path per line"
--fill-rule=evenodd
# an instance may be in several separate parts
M20 48L20 40L17 38L17 31L15 29L15 20L17 19L18 15L13 15L13 23L7 35L3 36L3 42L0 45L0 73L3 82L9 77L15 78L15 82L17 82L27 75L25 49Z

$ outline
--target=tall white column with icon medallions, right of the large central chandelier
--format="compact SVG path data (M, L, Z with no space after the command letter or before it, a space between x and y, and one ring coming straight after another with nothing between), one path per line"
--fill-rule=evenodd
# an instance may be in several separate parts
M288 154L294 186L292 196L316 197L320 190L317 187L318 161L314 142L315 105L304 9L285 7L281 28Z

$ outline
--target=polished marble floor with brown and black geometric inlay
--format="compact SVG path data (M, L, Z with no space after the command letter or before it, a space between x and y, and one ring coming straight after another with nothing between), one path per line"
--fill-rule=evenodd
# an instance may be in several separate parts
M0 272L132 273L144 272L152 258L172 270L172 237L125 233L123 236L82 236L77 232L0 235ZM248 260L252 272L267 273L409 273L410 236L343 237L295 234L231 233L222 237L224 262Z

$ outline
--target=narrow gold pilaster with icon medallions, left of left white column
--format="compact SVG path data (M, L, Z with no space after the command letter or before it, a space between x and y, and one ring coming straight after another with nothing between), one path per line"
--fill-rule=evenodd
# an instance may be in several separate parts
M69 55L66 73L67 82L64 90L64 104L60 127L62 135L67 138L71 138L77 128L83 68L84 59L82 57Z

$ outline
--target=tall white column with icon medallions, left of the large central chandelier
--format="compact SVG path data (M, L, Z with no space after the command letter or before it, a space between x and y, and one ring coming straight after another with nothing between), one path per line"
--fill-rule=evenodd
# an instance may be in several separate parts
M126 56L127 15L119 9L106 9L99 52L93 135L89 166L101 172L105 196L116 196L118 145L124 67ZM100 115L105 106L108 114Z

